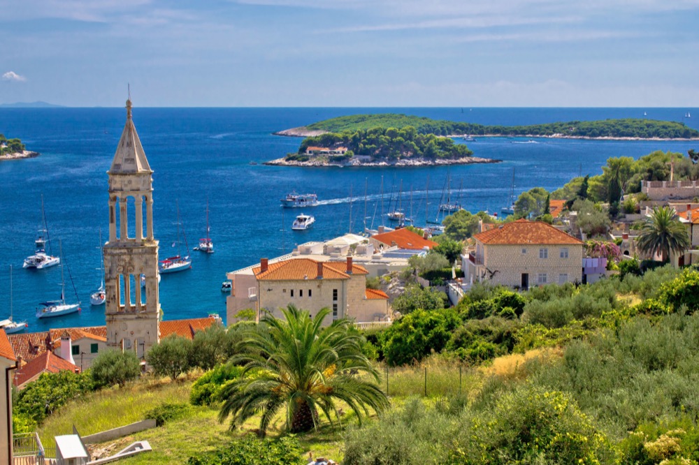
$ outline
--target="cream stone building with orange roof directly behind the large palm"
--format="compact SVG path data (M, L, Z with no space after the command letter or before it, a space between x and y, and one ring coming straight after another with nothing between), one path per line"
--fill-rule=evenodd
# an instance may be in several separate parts
M324 307L331 309L324 325L345 316L358 323L389 319L388 295L366 288L368 272L352 257L343 262L290 258L275 263L263 258L249 271L233 275L226 306L229 323L244 309L254 309L257 318L266 313L280 318L280 308L289 304L311 316Z

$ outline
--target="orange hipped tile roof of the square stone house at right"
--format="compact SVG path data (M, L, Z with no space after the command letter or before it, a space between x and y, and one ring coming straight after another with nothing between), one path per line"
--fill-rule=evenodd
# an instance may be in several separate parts
M502 227L480 232L473 236L483 244L519 245L519 244L582 244L582 241L570 234L558 230L542 221L519 219L505 223Z

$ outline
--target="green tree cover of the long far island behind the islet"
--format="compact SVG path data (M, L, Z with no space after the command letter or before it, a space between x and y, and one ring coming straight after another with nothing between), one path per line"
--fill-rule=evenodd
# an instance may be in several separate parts
M379 115L350 115L326 119L310 124L306 128L315 131L339 133L361 131L371 128L405 128L412 126L419 134L435 135L509 135L509 136L553 136L580 138L699 138L699 131L675 121L653 119L605 119L600 121L566 121L531 126L485 126L384 113Z

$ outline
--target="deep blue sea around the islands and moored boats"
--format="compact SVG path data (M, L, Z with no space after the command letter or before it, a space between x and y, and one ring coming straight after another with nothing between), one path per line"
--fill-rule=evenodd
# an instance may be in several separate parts
M137 103L137 102L136 102ZM225 316L221 282L226 272L257 263L261 257L289 253L296 244L331 239L345 232L376 228L383 210L394 207L403 185L402 207L424 225L435 219L447 176L452 200L473 212L499 212L515 191L535 186L556 189L580 173L597 175L611 156L638 158L654 150L686 153L699 149L687 141L612 141L480 138L468 145L476 156L503 163L428 168L287 168L261 163L296 152L300 138L272 135L326 118L367 112L401 112L435 119L480 124L526 125L552 121L640 118L684 121L699 128L693 108L134 108L134 122L154 170L154 228L160 256L177 247L175 200L191 250L206 234L216 252L192 251L192 270L162 276L160 300L165 319L198 318L210 312ZM685 119L686 112L697 117ZM123 108L3 109L0 133L21 138L37 158L0 162L0 318L10 312L9 267L13 265L15 320L29 331L49 327L103 325L103 307L90 307L89 294L100 283L99 229L106 240L108 193L106 171L124 126ZM457 142L462 143L461 140ZM254 161L259 164L251 165ZM429 195L426 187L429 179ZM383 184L383 196L381 186ZM317 193L322 205L312 230L292 232L298 209L282 209L287 193ZM410 202L412 191L412 203ZM22 260L34 253L41 224L41 195L52 249L58 239L67 265L66 295L73 285L82 312L37 320L38 302L59 297L59 267L24 270ZM365 202L365 195L368 200ZM393 198L393 204L391 203ZM387 223L387 221L383 221ZM185 244L182 243L182 252Z

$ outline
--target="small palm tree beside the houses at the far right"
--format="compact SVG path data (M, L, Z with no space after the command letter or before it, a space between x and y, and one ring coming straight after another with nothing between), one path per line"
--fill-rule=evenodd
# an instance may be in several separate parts
M677 220L671 207L653 209L653 214L645 219L637 243L646 253L658 253L663 262L670 259L671 251L682 253L691 247L687 228Z

